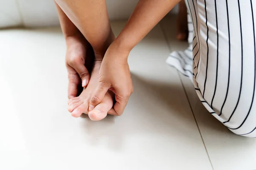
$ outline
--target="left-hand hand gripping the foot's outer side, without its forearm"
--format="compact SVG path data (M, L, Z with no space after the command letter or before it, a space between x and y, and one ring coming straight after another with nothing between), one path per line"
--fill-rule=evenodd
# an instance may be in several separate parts
M68 74L68 98L78 95L78 87L86 87L90 74L84 66L87 42L79 36L67 37L66 67Z

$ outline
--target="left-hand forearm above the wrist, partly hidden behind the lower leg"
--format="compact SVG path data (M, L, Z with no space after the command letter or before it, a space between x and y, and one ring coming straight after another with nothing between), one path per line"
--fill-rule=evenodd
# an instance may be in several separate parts
M61 30L64 34L65 39L67 40L69 37L80 36L81 33L79 29L72 23L72 21L67 17L64 11L62 11L62 9L55 1L54 3L57 8L58 17L61 24Z

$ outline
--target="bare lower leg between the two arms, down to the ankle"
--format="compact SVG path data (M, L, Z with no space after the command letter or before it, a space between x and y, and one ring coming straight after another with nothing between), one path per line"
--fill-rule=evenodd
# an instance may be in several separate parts
M69 19L90 42L97 54L105 54L114 35L105 0L55 0Z

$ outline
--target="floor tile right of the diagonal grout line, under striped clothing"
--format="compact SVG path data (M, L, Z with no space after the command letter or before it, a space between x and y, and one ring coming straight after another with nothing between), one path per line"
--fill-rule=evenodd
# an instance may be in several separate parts
M175 40L174 24L175 16L167 16L160 23L169 48L171 51L186 49L186 43ZM256 139L237 136L224 127L201 104L191 81L180 77L214 170L255 170Z

